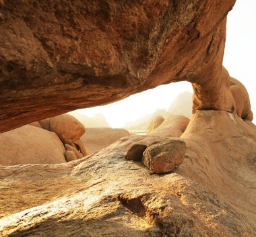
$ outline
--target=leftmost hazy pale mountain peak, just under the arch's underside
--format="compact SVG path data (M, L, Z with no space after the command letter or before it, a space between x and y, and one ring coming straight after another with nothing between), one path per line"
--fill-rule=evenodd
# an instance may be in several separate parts
M97 113L94 117L88 117L79 111L71 111L69 114L73 115L79 122L84 124L86 128L110 128L106 118L102 113Z

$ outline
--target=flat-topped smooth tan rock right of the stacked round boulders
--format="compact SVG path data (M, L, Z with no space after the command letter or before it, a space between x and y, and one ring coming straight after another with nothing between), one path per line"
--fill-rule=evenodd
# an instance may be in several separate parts
M129 132L121 128L86 128L81 140L86 145L87 153L93 154L128 135Z

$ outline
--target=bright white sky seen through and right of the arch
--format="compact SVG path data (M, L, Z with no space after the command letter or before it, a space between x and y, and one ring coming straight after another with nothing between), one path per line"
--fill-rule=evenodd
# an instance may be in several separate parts
M236 0L228 14L224 66L230 75L241 81L250 95L252 110L256 117L256 0ZM79 109L94 116L102 113L113 128L121 128L126 122L137 120L156 109L168 109L172 101L183 91L191 91L190 83L171 83L155 89L131 95L110 105ZM255 120L254 120L255 122Z

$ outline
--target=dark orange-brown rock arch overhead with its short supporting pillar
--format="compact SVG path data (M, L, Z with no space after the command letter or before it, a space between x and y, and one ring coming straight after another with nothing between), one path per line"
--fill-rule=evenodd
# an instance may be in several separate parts
M4 1L0 130L190 81L194 110L232 111L222 70L234 0Z

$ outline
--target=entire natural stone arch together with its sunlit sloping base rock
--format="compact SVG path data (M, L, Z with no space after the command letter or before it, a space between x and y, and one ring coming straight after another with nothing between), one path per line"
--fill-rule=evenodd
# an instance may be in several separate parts
M134 144L166 140L164 130L64 164L0 166L0 234L256 236L256 128L222 67L234 2L2 4L2 132L177 81L193 83L194 114L183 163L166 175L125 159Z

